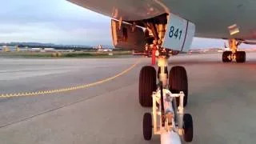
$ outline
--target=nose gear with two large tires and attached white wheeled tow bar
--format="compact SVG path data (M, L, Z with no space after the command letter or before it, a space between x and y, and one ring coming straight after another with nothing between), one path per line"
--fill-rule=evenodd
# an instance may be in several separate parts
M158 73L153 66L144 66L139 77L139 103L152 107L143 116L143 137L150 141L152 134L161 135L163 144L181 144L193 140L193 119L185 114L188 100L186 69L174 66L168 74L168 61L158 57ZM156 84L158 78L158 85Z

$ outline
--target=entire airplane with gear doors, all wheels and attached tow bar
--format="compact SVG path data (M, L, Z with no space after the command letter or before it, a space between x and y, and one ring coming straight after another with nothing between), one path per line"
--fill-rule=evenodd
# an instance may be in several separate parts
M139 75L139 103L152 107L152 113L143 116L146 141L152 134L160 134L164 144L193 140L193 119L183 109L190 95L186 69L173 66L168 72L170 50L188 52L194 36L223 38L228 40L230 50L223 51L222 62L243 63L246 52L238 50L238 46L255 44L254 0L69 1L110 17L115 47L132 50L143 50L146 45L158 47L158 72L153 66L144 66Z

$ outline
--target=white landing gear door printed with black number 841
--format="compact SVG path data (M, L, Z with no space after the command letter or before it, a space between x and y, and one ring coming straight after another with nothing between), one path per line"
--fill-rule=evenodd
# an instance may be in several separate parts
M188 52L194 38L194 31L194 23L177 15L169 14L162 47Z

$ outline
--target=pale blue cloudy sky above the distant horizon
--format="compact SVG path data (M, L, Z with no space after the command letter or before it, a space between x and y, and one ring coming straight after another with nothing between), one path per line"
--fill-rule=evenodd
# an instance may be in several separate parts
M0 42L112 45L110 18L66 0L2 0L1 4ZM224 42L194 38L191 47L223 47Z

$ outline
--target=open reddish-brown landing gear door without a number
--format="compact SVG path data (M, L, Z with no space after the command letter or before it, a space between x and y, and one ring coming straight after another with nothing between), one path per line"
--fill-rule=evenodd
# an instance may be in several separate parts
M115 48L126 50L144 50L146 45L144 31L137 26L111 20L112 40Z

